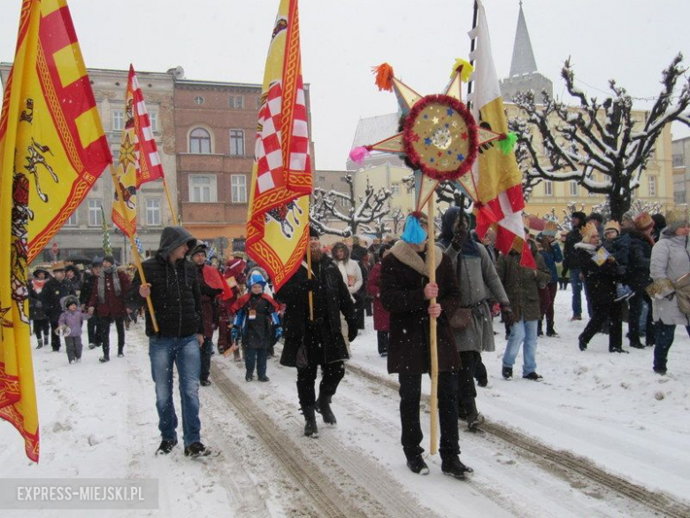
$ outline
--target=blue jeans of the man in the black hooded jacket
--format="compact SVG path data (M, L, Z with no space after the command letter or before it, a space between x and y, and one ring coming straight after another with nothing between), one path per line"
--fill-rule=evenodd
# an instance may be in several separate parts
M180 375L182 430L185 446L201 440L199 421L199 374L201 356L196 335L149 336L151 375L156 383L158 429L164 440L177 440L177 414L173 402L173 364Z

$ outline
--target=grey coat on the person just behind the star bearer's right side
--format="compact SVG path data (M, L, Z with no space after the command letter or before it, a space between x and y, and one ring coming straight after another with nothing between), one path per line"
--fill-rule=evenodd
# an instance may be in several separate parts
M494 326L489 301L508 304L508 296L503 290L487 249L477 244L477 250L479 255L477 253L461 254L452 246L446 250L460 285L460 305L472 307L470 326L453 333L457 350L460 352L495 351Z

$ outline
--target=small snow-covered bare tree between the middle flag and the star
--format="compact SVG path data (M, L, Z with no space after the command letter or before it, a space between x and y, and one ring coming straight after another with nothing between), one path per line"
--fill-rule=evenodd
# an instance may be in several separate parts
M367 178L364 196L357 198L352 174L345 174L344 180L349 186L347 193L338 190L314 189L310 208L311 224L322 234L354 236L360 227L365 232L373 234L374 230L370 224L375 225L377 220L382 219L391 210L390 204L387 204L391 191L383 187L374 190ZM327 224L329 220L342 221L346 223L346 226L345 228L330 227Z

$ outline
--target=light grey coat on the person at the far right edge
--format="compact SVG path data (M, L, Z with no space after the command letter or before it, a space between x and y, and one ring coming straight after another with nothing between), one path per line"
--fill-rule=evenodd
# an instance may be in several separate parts
M649 274L655 286L662 285L664 279L676 281L678 277L690 272L690 251L686 236L666 235L662 233L658 243L652 249L652 259ZM676 298L669 300L666 296L672 291L663 288L653 298L654 320L663 321L667 325L687 326L690 319L680 313Z

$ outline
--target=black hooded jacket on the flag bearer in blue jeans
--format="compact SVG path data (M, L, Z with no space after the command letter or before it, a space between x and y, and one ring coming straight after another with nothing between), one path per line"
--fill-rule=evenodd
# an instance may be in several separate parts
M161 248L157 254L142 263L146 282L151 285L151 302L156 313L158 336L203 335L201 291L196 282L196 267L187 259L174 264L169 254L180 244L196 242L181 227L166 227L161 236ZM135 309L142 305L146 311L146 335L156 336L150 320L146 299L139 295L142 279L137 271L127 294L127 306Z

